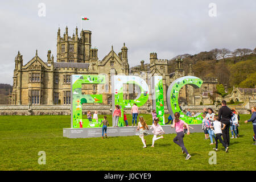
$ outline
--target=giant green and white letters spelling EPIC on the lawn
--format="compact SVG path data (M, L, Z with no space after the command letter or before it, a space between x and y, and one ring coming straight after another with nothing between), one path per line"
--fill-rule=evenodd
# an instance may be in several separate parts
M102 119L82 119L82 104L102 103L102 94L82 94L82 84L106 84L105 75L72 75L71 83L71 127L99 127ZM134 100L123 99L123 85L133 84L139 88L139 94ZM202 122L202 114L197 113L195 117L187 117L180 110L178 104L179 90L186 84L195 88L200 88L203 81L194 76L185 76L173 81L167 91L167 106L169 113L174 118L174 113L179 112L181 118L189 124L198 124ZM153 108L156 110L157 117L160 119L160 125L164 125L164 93L162 76L153 76L151 78L151 94ZM138 107L146 104L149 96L149 88L141 77L114 75L112 76L112 105L121 107L121 117L119 117L118 126L124 126L123 109L131 108L133 104ZM114 111L114 109L113 109ZM93 113L92 113L93 115Z

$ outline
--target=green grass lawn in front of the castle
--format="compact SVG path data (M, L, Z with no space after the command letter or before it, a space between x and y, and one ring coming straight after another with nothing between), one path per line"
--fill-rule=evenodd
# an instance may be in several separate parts
M152 122L150 115L143 117L148 124ZM241 115L240 137L230 139L228 153L220 144L217 164L210 165L213 146L203 133L185 135L192 156L185 160L180 147L172 142L176 134L164 135L155 148L150 147L152 135L146 136L148 147L142 148L138 136L64 138L63 128L71 125L69 115L1 116L0 170L255 170L253 126L243 122L248 118L250 115ZM130 123L130 115L127 119ZM39 151L46 152L46 165L38 164Z

